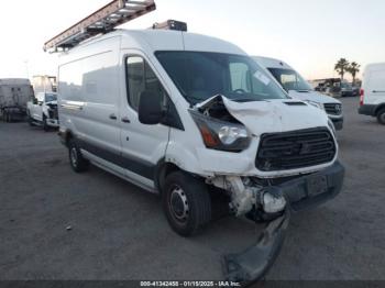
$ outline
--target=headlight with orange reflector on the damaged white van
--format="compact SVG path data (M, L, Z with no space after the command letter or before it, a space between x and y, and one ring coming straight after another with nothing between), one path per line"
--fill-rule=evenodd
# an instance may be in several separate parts
M251 135L244 125L217 120L190 110L206 147L240 152L249 147Z

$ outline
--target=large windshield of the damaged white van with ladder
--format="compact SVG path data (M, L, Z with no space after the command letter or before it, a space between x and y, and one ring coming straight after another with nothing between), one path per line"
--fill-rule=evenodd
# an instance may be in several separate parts
M156 52L155 55L191 104L216 95L240 102L287 98L248 56L209 52Z

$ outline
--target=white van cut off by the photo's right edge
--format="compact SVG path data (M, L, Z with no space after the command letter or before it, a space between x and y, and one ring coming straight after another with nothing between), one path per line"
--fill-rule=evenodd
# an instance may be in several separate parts
M385 124L385 63L365 67L360 95L359 113L376 117L381 124Z

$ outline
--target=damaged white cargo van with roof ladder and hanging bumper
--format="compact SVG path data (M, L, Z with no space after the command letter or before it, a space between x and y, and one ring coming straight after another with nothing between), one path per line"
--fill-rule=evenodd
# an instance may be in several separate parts
M92 163L160 193L184 236L210 222L218 192L234 215L268 222L253 248L226 257L227 278L258 279L278 255L290 212L341 190L332 124L231 43L175 21L166 25L173 31L98 27L95 19L122 23L154 9L145 1L130 11L138 3L113 1L45 45L64 49L58 113L69 163L77 173Z

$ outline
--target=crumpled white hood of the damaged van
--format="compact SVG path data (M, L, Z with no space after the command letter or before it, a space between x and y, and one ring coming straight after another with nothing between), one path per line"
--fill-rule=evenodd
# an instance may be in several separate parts
M219 99L232 117L257 136L263 133L328 126L328 117L323 111L295 99L235 102L218 95L198 103L196 108L205 108Z

